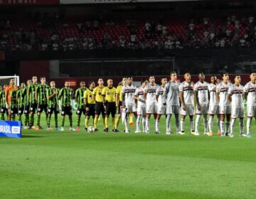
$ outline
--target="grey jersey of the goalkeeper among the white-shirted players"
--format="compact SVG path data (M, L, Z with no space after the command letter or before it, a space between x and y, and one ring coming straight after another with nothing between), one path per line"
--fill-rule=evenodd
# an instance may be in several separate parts
M178 99L178 87L181 85L180 82L171 82L169 81L166 85L166 103L170 104L171 106L179 106L179 99Z

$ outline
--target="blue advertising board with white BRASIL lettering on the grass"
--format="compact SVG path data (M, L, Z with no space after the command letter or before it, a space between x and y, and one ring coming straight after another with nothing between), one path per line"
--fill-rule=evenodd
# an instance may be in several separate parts
M21 122L0 120L0 136L21 138Z

